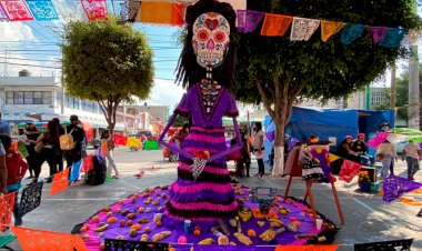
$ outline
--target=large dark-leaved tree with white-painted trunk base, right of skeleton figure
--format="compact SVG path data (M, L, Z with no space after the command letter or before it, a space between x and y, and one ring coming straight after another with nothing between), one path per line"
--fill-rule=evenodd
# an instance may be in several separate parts
M420 20L411 0L249 0L248 9L330 21L368 26L415 28ZM243 102L263 102L275 123L275 167L283 168L284 127L298 97L320 100L345 97L379 78L405 48L388 49L374 44L369 32L349 46L340 34L321 41L320 29L309 41L260 36L261 24L252 33L240 33L238 67L232 91Z

